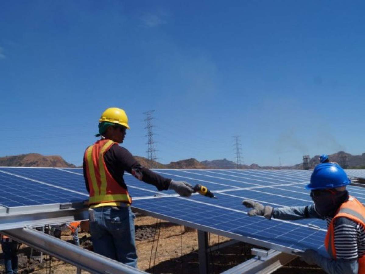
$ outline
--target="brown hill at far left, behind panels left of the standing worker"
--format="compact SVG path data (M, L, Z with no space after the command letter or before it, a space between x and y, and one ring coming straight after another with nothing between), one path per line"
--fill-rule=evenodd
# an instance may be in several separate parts
M0 157L0 166L75 167L61 156L44 156L37 153Z

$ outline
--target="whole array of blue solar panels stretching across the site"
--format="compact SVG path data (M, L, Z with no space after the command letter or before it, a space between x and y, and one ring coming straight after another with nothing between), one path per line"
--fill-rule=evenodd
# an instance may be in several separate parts
M285 252L314 248L326 253L323 246L325 221L249 217L241 204L243 199L252 199L273 207L308 205L312 201L304 186L310 180L311 171L160 169L155 172L192 185L207 186L218 200L199 194L183 198L172 190L158 192L155 186L126 174L124 178L133 197L132 206L141 212ZM362 177L365 171L348 170L347 173ZM0 206L9 209L88 198L82 169L78 168L0 167L0 189ZM351 195L365 203L365 188L349 186L348 189Z

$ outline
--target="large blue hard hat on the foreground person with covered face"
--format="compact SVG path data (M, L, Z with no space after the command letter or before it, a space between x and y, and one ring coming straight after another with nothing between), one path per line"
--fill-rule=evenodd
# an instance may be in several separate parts
M315 167L311 175L311 182L306 189L338 188L350 184L345 170L335 163L322 163Z

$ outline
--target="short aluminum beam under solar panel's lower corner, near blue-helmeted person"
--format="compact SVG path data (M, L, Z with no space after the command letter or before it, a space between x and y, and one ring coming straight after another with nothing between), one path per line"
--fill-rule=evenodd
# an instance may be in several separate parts
M241 265L232 267L221 274L268 274L278 270L283 265L293 261L297 256L286 254L276 250L269 250L266 258L259 259L258 256L247 260Z

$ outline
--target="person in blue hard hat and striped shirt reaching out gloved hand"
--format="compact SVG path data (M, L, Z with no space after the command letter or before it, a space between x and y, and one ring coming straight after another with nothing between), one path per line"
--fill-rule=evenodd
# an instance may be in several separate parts
M296 252L310 265L318 265L327 273L365 273L365 207L349 196L350 184L345 171L334 163L317 165L310 184L313 204L305 207L273 208L252 200L243 205L253 208L249 216L261 215L267 219L299 220L319 218L327 221L324 245L330 258L312 249Z

